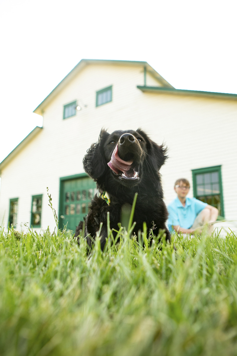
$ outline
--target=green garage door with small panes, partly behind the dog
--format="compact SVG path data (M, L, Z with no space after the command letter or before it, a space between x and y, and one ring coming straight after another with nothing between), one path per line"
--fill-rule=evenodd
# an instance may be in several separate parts
M67 229L74 232L88 213L88 204L96 192L96 183L84 173L61 178L59 227L67 225Z

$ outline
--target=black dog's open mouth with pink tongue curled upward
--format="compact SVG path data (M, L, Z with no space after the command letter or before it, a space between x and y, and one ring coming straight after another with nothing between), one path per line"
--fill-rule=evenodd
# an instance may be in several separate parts
M139 167L135 166L133 159L130 158L129 161L124 161L119 157L118 145L114 148L111 160L107 164L120 179L139 179Z

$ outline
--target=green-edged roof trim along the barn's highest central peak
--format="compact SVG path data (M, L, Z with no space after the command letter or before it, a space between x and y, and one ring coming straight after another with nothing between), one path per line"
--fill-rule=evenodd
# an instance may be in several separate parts
M113 61L107 59L81 59L81 61L74 67L68 75L51 91L51 93L42 101L39 106L34 110L36 114L42 115L42 112L50 101L55 98L56 95L77 75L83 68L90 64L116 64L118 66L143 66L146 68L146 72L150 73L158 82L160 82L166 88L173 88L159 73L153 69L147 62L140 61ZM174 88L173 88L174 89Z

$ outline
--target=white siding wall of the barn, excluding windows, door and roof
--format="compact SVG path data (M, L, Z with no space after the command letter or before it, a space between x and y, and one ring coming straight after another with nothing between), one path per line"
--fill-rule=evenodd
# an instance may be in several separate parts
M58 213L59 178L83 172L82 158L102 127L109 132L141 127L157 143L166 142L169 159L161 174L167 203L175 197L177 178L186 177L192 187L191 169L222 165L225 216L236 219L237 101L142 93L136 86L143 84L142 66L85 67L45 108L42 132L2 172L0 225L2 220L7 225L10 198L19 198L21 229L30 223L32 195L43 194L42 227L54 230L46 187ZM96 91L110 85L112 102L96 108ZM147 74L147 85L160 84ZM82 110L63 120L63 106L74 100Z

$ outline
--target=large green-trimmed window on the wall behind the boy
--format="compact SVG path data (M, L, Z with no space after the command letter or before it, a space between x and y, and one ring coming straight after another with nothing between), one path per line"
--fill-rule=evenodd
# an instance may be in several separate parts
M193 196L215 206L224 216L221 166L193 169Z

